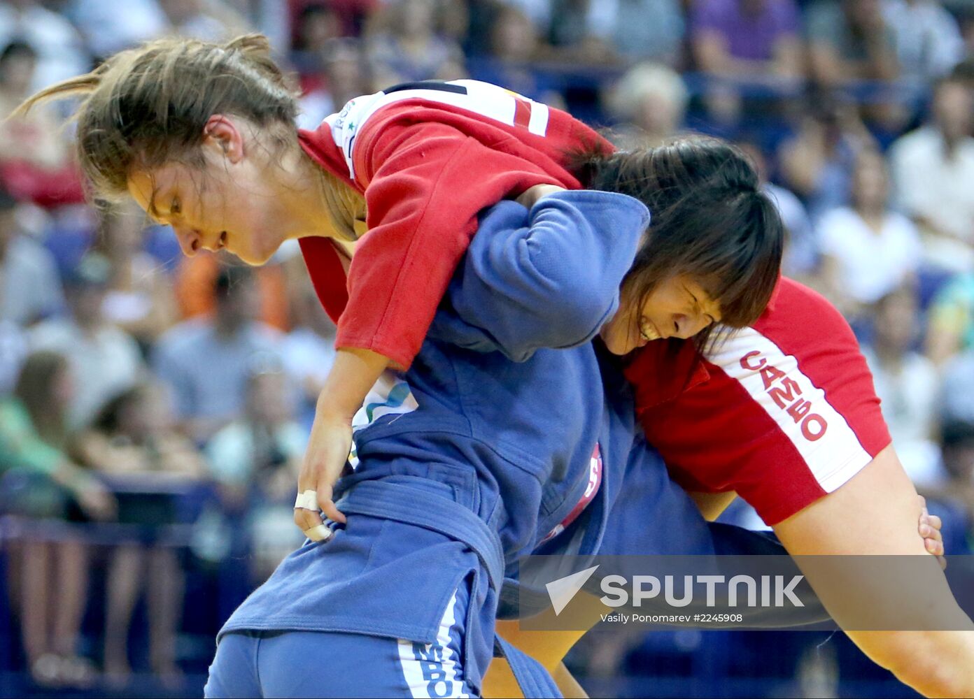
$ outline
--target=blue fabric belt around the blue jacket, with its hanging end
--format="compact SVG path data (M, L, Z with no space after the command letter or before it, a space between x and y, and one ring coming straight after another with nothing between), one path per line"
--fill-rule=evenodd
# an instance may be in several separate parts
M404 496L407 501L404 501ZM394 520L445 534L467 544L487 570L491 589L500 594L504 583L504 549L497 533L470 510L453 500L426 491L381 481L357 483L337 503L346 514ZM544 666L495 634L495 656L506 657L514 680L526 699L561 697Z

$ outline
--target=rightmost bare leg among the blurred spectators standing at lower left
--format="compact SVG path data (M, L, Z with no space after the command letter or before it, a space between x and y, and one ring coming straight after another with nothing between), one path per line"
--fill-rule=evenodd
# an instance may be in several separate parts
M156 548L149 554L149 657L152 671L164 683L180 680L176 666L176 632L186 580L175 552Z

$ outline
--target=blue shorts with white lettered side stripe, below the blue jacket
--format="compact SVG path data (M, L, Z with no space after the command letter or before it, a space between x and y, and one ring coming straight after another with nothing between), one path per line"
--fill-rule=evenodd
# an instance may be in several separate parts
M209 666L206 697L470 697L462 584L432 644L323 631L232 631Z

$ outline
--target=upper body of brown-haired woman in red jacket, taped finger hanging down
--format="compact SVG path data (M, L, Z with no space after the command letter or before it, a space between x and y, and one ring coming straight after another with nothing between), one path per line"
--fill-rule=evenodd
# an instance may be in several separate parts
M226 249L259 265L302 239L338 323L295 506L312 537L324 535L318 507L344 520L331 487L353 417L387 368L409 368L477 212L538 184L578 188L567 154L611 150L564 112L466 80L357 97L299 131L296 95L257 35L122 52L21 111L71 94L83 95L78 154L94 195L131 196L187 255Z

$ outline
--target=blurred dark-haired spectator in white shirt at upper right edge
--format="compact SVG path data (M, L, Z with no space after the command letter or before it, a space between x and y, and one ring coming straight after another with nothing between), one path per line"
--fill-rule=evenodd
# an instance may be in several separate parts
M896 201L923 234L925 260L950 272L974 269L974 98L945 78L933 96L933 120L890 149Z

